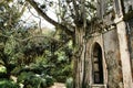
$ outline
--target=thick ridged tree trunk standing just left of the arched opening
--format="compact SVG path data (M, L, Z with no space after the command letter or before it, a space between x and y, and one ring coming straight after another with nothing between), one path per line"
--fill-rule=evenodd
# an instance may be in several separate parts
M85 31L83 28L75 30L74 45L74 88L82 88L84 80L84 61L85 61Z

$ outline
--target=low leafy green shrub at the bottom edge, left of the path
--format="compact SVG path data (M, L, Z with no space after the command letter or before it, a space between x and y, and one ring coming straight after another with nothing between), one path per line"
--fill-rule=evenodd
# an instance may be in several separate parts
M18 82L24 85L24 88L45 88L53 85L53 78L44 74L38 75L34 73L21 73L18 77Z

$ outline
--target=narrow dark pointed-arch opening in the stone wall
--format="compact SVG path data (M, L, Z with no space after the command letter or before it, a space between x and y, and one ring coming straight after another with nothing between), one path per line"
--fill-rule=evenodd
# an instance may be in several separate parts
M100 44L95 43L92 52L92 75L93 84L103 84L103 62L102 62L102 48Z

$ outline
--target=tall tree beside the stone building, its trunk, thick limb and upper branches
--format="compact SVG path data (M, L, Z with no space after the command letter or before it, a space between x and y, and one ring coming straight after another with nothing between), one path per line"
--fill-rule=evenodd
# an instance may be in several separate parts
M25 0L48 22L63 31L73 40L74 79L76 88L84 85L84 61L86 50L86 28L90 21L96 18L96 3L101 0ZM58 21L53 20L50 10L54 12ZM81 72L82 70L82 72ZM76 73L76 75L75 75Z

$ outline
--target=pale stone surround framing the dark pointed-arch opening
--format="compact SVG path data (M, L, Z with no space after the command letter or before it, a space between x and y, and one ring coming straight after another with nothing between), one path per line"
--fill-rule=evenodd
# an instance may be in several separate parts
M102 48L102 61L103 61L103 73L104 73L104 82L108 82L108 74L106 74L106 64L104 59L104 48L103 48L103 35L100 33L93 34L92 37L88 40L88 46L86 46L86 58L85 58L85 84L88 85L86 88L92 87L93 84L93 74L92 74L92 53L94 44L100 44Z

